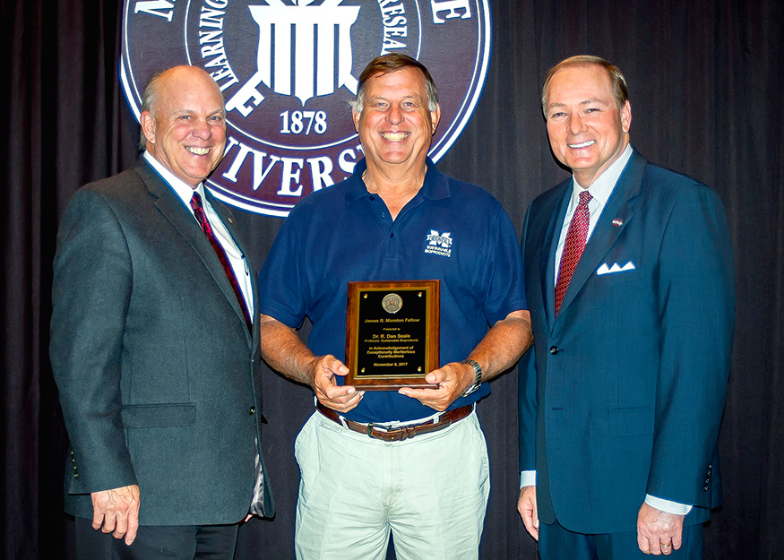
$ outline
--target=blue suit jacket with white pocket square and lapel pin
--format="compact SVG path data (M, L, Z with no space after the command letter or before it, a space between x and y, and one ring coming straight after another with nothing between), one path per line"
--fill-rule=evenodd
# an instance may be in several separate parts
M646 494L720 499L716 443L734 328L732 246L718 196L636 151L557 318L554 265L572 179L530 204L522 237L535 351L520 378L521 470L540 521L634 531ZM617 263L633 269L601 273ZM607 265L606 267L603 265Z

